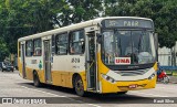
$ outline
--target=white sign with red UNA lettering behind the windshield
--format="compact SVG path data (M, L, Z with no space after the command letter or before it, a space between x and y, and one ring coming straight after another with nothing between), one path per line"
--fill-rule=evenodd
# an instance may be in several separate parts
M115 57L115 64L121 64L121 65L131 64L131 57Z

